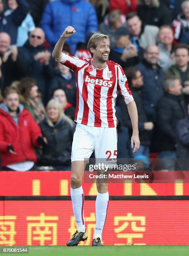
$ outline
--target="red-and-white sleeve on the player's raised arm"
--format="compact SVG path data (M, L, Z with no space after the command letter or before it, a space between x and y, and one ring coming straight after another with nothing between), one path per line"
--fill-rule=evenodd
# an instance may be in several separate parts
M69 55L64 54L64 53L62 53L61 59L56 60L56 61L65 65L66 67L69 67L73 71L79 70L82 67L84 67L84 65L87 64L87 61L85 61L84 59L79 59L79 58L69 56Z

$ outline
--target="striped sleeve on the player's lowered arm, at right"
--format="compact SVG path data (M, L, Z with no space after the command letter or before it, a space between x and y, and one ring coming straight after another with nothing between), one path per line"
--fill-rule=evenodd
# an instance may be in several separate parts
M125 103L130 103L133 99L132 93L128 86L128 80L120 65L117 66L117 88L120 94L123 96Z

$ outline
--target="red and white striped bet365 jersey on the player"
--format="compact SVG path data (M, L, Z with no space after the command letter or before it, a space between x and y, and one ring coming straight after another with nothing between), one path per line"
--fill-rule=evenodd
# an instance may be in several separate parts
M61 64L72 69L77 83L75 121L89 126L116 127L115 98L117 89L126 104L133 100L123 69L107 61L102 69L92 65L92 59L79 59L62 54Z

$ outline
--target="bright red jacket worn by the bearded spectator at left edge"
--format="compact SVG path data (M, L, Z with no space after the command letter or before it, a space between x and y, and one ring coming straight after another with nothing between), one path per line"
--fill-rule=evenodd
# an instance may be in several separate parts
M2 166L16 164L23 161L37 161L33 146L39 146L36 142L41 136L41 129L28 110L23 109L18 116L19 127L13 118L0 109L0 154ZM8 151L11 144L16 155Z

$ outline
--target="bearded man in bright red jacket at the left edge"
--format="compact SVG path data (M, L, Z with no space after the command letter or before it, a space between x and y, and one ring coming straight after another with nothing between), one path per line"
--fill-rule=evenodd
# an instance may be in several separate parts
M37 142L38 141L38 142ZM3 170L25 172L35 168L33 146L43 143L41 130L28 110L19 104L18 92L5 90L0 104L0 155Z

